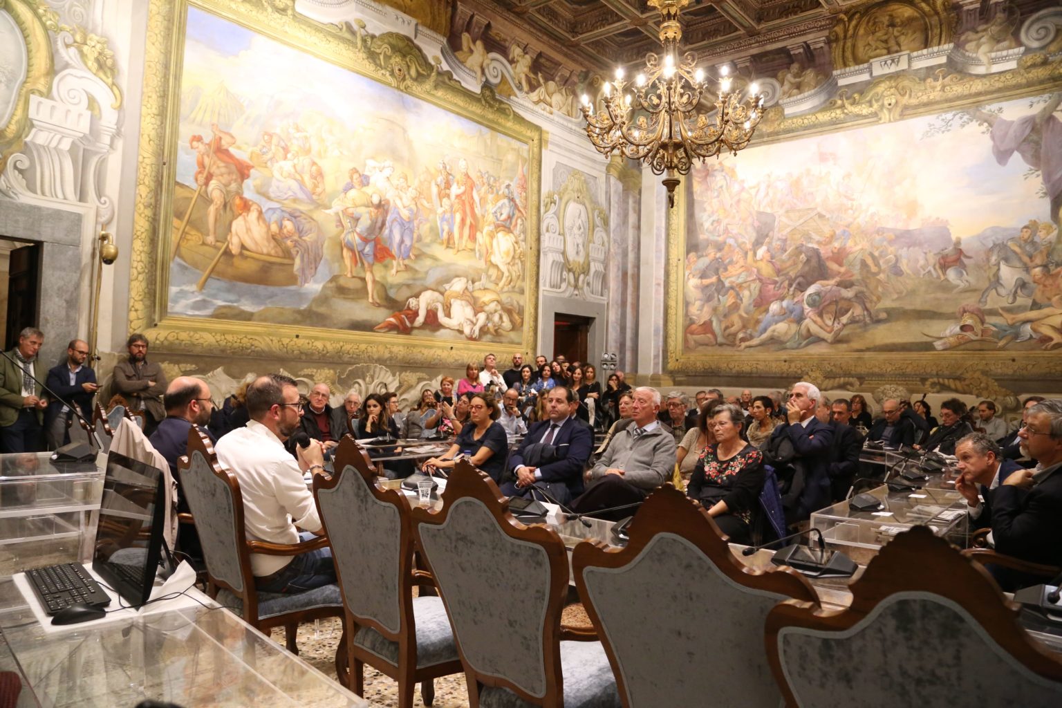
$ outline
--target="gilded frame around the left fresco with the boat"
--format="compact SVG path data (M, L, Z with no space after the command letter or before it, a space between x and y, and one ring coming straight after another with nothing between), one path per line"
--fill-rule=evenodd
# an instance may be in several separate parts
M130 265L130 331L144 332L152 349L179 355L316 360L358 363L388 360L399 365L452 367L496 349L496 342L435 340L378 332L350 332L294 325L252 324L166 314L169 290L171 194L162 189L175 171L187 8L195 7L241 24L311 56L392 86L457 116L528 145L528 242L523 336L513 346L530 350L537 341L538 260L543 131L516 114L490 88L468 91L397 33L376 36L364 27L316 22L294 12L294 0L151 0L144 56L136 207ZM165 217L165 218L164 218ZM382 312L382 311L381 311ZM383 315L386 316L386 315Z

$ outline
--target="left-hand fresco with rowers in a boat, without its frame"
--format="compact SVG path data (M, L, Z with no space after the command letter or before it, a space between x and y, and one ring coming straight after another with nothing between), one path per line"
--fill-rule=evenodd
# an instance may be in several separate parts
M188 11L168 312L519 342L526 143Z

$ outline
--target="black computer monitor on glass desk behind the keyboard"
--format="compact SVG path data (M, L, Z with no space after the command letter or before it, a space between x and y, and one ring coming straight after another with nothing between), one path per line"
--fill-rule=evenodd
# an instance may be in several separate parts
M92 569L131 605L151 597L162 547L162 472L112 450L100 502Z

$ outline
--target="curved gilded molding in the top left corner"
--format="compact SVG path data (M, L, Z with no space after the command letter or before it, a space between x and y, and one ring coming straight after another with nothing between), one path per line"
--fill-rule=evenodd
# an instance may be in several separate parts
M30 97L47 98L51 91L55 64L52 58L52 42L42 19L48 7L39 8L30 0L0 0L0 10L7 14L18 27L25 42L25 81L18 87L15 108L5 125L0 125L0 173L7 165L7 158L22 149L30 121Z

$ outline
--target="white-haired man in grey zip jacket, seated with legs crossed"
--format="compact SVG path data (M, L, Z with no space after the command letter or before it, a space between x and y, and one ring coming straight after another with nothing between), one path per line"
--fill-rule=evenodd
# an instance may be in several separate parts
M643 501L671 478L675 462L674 437L656 419L660 410L658 391L649 386L634 390L631 403L634 422L616 433L588 472L590 485L572 502L572 510L605 519L623 518L633 514L633 508L602 510Z

